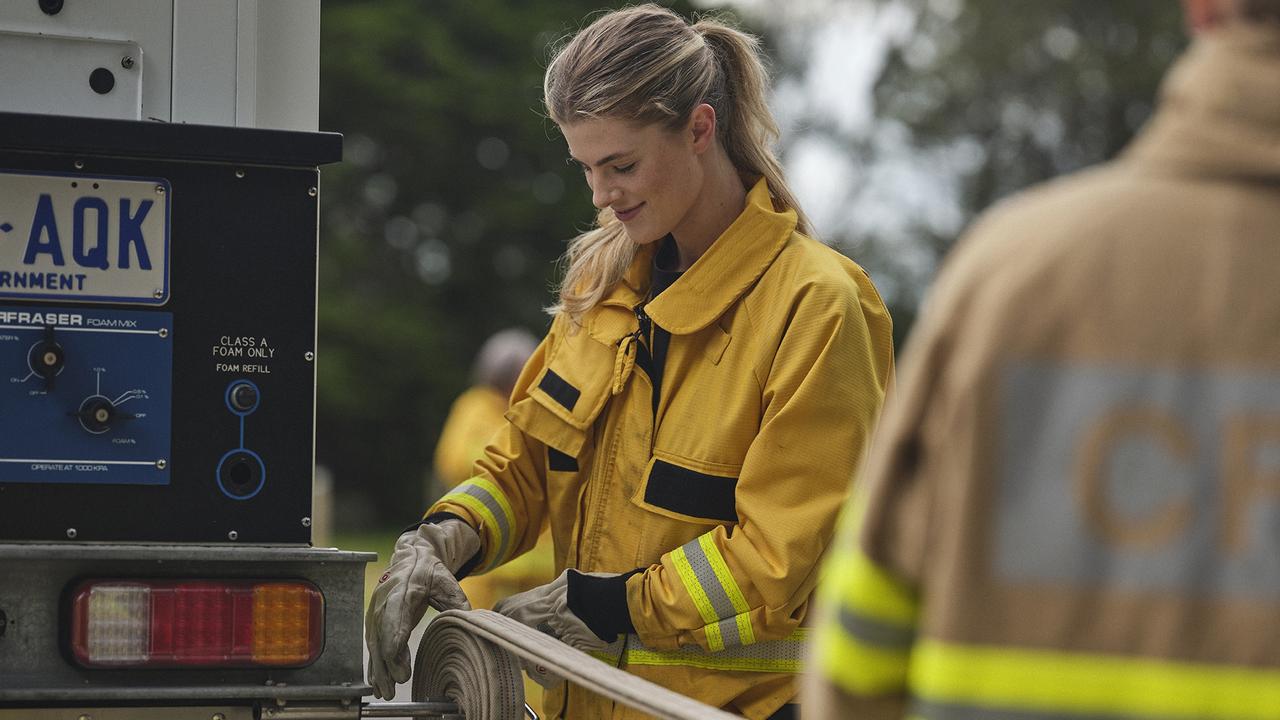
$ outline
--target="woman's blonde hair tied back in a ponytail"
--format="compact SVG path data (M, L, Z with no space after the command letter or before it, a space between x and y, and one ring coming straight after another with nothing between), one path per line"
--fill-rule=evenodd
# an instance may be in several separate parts
M759 41L719 18L690 26L658 5L599 17L554 56L543 79L547 111L559 126L591 118L682 127L701 102L716 109L717 140L750 187L763 177L774 205L795 210L797 229L809 220L773 152L778 126L768 106L769 76ZM548 311L575 322L622 279L636 245L604 209L596 227L570 243L559 302Z

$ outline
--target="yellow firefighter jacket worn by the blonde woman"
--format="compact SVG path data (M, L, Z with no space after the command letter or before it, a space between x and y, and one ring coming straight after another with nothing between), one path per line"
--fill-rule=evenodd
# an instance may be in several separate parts
M867 274L795 224L760 181L657 299L649 249L581 328L556 318L476 477L429 511L479 528L481 570L544 524L557 571L643 569L607 661L751 719L796 693L818 559L893 364ZM671 333L657 397L637 307ZM577 687L544 707L631 716Z

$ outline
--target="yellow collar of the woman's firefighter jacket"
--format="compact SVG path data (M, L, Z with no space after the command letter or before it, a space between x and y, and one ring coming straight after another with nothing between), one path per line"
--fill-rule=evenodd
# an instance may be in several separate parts
M680 279L645 306L645 313L672 334L705 328L755 284L795 227L795 211L776 210L769 186L760 178L746 193L746 206L737 219ZM643 274L645 288L653 270L653 252L654 249L648 249L627 270L628 275Z

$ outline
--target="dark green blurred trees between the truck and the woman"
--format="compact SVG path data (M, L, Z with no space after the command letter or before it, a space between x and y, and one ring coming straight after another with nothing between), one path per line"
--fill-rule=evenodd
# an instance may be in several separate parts
M324 170L316 460L339 527L416 518L480 343L549 325L554 261L593 209L541 77L599 8L325 0L320 127L346 150Z

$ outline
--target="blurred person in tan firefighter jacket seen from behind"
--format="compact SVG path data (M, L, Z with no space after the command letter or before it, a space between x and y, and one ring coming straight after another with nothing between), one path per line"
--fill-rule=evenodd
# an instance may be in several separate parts
M941 274L819 600L812 717L1280 716L1280 0Z

